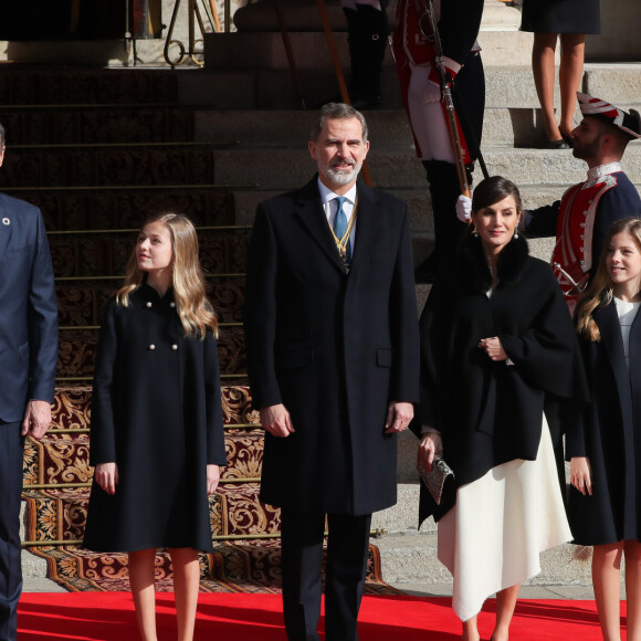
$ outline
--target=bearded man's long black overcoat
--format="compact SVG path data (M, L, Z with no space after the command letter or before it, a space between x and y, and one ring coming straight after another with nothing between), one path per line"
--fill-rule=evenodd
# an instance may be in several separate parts
M418 400L419 340L409 212L358 183L348 275L317 178L259 206L245 291L256 409L284 403L295 432L265 434L261 498L369 514L396 503L390 401Z

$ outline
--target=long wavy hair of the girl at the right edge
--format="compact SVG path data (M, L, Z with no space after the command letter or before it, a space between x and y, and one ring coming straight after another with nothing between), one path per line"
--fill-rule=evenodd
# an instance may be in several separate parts
M598 307L610 305L614 298L614 288L607 265L608 248L612 242L612 238L623 232L629 233L634 239L637 249L641 252L641 219L632 217L616 220L608 230L608 235L603 242L597 273L577 307L577 332L588 340L598 341L601 339L601 333L592 318L592 313Z

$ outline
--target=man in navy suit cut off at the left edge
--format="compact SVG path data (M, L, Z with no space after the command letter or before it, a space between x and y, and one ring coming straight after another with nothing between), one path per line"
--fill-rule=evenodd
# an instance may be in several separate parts
M0 166L4 128L0 125ZM0 193L0 641L15 641L22 590L20 497L24 439L51 423L57 305L42 214Z

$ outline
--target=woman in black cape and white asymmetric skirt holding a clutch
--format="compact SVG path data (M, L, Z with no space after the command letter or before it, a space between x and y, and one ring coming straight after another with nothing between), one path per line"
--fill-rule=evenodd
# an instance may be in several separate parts
M471 229L421 316L419 458L430 467L442 452L455 474L439 559L454 577L465 641L479 640L476 617L494 592L492 638L505 641L539 553L571 538L544 408L558 417L587 386L566 303L550 266L528 255L522 214L509 180L476 187ZM422 486L421 516L434 507Z

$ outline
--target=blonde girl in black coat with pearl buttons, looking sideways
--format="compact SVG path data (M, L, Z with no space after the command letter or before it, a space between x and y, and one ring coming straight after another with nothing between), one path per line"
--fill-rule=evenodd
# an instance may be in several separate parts
M156 641L156 549L169 548L178 640L191 641L208 494L224 465L217 320L183 216L143 227L107 302L94 375L85 545L128 553L140 637Z

